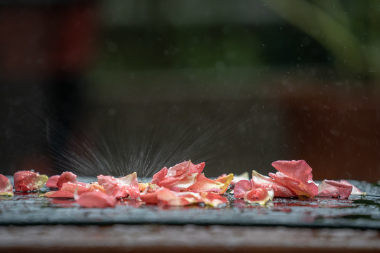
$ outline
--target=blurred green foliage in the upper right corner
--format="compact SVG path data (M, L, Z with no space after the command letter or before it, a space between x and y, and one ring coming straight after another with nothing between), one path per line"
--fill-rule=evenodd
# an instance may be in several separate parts
M380 1L262 0L331 52L336 67L379 79ZM297 8L295 8L297 6Z

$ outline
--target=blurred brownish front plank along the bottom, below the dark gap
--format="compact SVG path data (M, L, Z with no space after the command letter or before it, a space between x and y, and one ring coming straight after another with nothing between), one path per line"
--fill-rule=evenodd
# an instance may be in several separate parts
M0 252L380 252L379 231L241 226L1 226Z

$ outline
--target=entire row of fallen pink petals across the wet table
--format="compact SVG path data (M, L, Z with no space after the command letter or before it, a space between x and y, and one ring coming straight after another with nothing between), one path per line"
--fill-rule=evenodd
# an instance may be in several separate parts
M205 163L194 164L190 160L164 167L148 183L141 183L134 172L121 178L99 175L97 182L82 183L77 176L65 171L61 175L40 175L34 171L18 171L14 174L16 192L36 191L46 186L53 191L43 197L70 198L81 207L115 207L119 200L144 202L147 205L186 206L210 205L217 207L228 203L226 193L234 186L234 197L250 204L266 205L273 197L341 197L365 195L348 181L324 180L318 186L312 180L312 168L304 161L276 161L272 166L277 173L263 176L252 171L236 176L223 174L208 179L203 174ZM241 180L240 180L241 179ZM11 182L0 174L0 195L13 195Z

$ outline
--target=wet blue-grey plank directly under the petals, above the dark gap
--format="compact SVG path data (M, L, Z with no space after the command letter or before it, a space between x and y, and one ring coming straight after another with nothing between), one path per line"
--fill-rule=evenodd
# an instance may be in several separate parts
M11 178L11 177L10 177ZM96 181L82 178L80 181ZM115 208L82 208L75 200L39 197L43 193L15 193L0 197L0 226L32 225L186 225L286 226L289 228L356 228L380 230L380 187L351 181L367 196L348 200L315 197L275 197L265 207L248 205L225 194L228 205L160 207L122 200Z

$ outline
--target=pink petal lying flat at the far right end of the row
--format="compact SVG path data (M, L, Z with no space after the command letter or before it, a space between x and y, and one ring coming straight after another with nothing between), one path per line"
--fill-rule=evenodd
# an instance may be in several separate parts
M318 196L348 198L352 190L352 185L333 180L324 180L318 187Z

